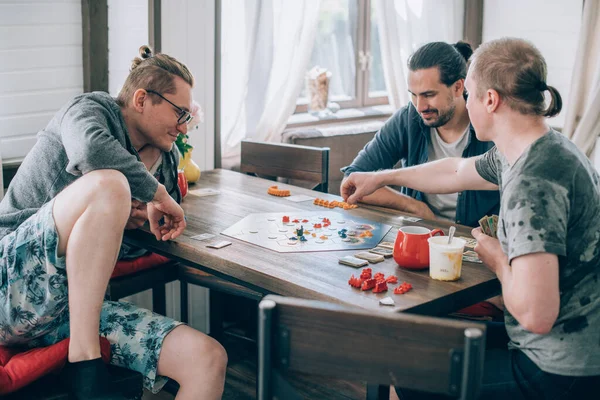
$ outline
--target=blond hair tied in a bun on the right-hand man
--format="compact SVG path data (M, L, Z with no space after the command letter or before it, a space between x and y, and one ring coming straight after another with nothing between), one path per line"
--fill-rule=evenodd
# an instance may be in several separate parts
M553 117L562 109L560 93L546 83L546 60L524 39L502 38L482 44L473 54L471 74L477 82L479 98L486 90L494 89L521 114ZM548 107L546 91L550 92Z

